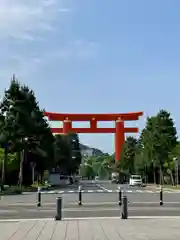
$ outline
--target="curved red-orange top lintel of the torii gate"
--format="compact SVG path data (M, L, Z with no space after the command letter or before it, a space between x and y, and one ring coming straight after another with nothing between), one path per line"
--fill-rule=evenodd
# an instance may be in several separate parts
M132 112L132 113L52 113L45 112L44 114L48 117L49 121L90 121L96 119L97 121L116 121L121 119L122 121L135 121L143 115L143 112Z

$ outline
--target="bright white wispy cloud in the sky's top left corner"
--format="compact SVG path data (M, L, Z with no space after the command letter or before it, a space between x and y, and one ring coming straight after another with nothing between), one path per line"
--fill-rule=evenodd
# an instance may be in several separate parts
M0 39L33 40L37 32L53 29L62 0L0 0ZM64 11L64 8L62 8Z

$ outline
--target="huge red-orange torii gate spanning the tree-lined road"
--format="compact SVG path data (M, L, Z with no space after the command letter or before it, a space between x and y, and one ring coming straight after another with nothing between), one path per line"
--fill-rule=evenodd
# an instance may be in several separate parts
M63 128L51 128L53 133L114 133L115 134L115 160L120 160L121 151L125 141L125 133L137 133L136 127L124 127L124 121L139 120L143 112L133 113L105 113L105 114L75 114L75 113L52 113L44 114L49 121L63 121ZM90 128L73 128L73 121L89 121ZM115 121L115 128L98 128L98 121Z

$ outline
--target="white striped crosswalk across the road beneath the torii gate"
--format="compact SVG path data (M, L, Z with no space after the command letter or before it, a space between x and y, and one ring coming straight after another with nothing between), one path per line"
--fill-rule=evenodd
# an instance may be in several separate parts
M119 190L81 190L82 193L117 193L119 192ZM126 192L126 193L159 193L159 190L122 190L122 192ZM176 190L176 191L171 191L171 190L164 190L164 193L180 193L180 190ZM69 190L69 191L41 191L41 194L66 194L66 193L78 193L78 190Z

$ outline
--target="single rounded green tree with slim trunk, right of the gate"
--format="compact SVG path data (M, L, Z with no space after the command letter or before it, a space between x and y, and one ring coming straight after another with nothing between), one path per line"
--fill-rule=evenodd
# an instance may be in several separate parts
M160 172L163 181L164 164L169 161L169 153L177 144L177 132L170 113L160 110L156 116L147 118L146 127L140 137L141 147L148 158Z

